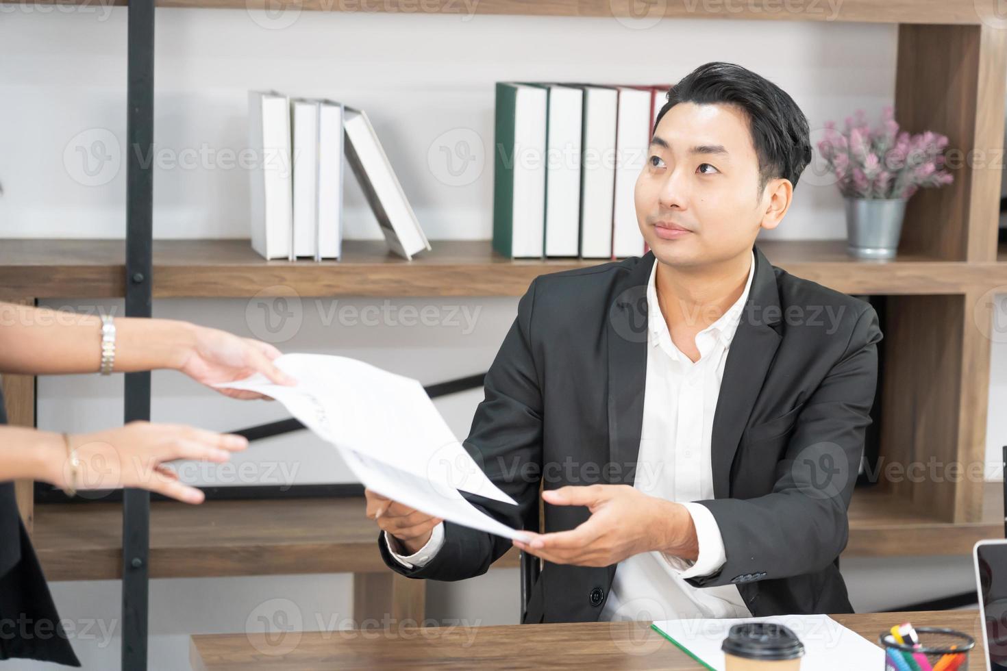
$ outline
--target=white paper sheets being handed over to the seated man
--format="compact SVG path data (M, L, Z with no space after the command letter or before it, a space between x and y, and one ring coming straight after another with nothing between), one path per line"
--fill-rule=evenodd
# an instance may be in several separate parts
M517 505L465 451L418 380L343 356L284 354L274 363L296 386L255 374L219 387L275 398L339 451L362 483L417 510L507 538L524 536L458 490Z

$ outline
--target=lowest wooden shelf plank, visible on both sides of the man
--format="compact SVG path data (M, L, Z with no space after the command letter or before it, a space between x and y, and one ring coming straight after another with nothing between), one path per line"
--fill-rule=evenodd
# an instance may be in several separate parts
M1001 485L986 486L984 518L949 524L915 516L905 499L858 490L844 556L968 554L981 538L1003 537ZM150 576L207 577L388 570L378 529L362 497L208 501L151 505ZM50 580L122 575L121 507L113 503L39 504L35 551ZM512 550L494 566L517 566Z

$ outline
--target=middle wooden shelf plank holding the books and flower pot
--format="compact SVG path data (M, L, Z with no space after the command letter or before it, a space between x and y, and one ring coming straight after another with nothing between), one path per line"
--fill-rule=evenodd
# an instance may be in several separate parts
M155 240L155 298L521 296L539 275L604 263L505 259L488 240L439 240L407 262L379 240L346 240L342 261L265 261L247 239ZM1007 263L900 255L861 261L844 240L760 240L769 262L848 294L961 294L1007 284ZM0 296L114 298L125 288L122 240L0 240Z

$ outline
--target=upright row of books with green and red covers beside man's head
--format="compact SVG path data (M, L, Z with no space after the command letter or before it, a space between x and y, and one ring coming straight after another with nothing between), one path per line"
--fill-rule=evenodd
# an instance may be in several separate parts
M496 82L493 248L514 259L644 254L633 189L669 89Z

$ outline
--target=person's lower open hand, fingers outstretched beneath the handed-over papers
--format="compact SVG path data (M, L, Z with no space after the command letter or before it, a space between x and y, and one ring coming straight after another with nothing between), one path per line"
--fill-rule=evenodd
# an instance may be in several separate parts
M58 487L70 485L78 490L138 487L185 503L201 503L203 493L182 484L167 462L194 459L223 463L231 459L232 452L248 447L248 440L234 434L131 422L119 429L70 434L70 449L79 461L74 478L62 437L52 436L55 438L46 460L49 466L46 480Z

